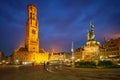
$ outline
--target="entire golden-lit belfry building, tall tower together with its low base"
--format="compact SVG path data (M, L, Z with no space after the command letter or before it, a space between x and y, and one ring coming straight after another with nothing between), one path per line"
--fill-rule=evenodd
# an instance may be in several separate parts
M37 8L28 5L28 19L26 24L25 46L14 49L14 62L42 63L48 61L48 53L39 48Z

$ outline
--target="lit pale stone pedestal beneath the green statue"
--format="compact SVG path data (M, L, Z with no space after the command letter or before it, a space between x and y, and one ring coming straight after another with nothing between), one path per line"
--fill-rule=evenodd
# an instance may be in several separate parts
M99 47L100 42L88 41L84 46L82 60L85 61L94 61L99 60Z

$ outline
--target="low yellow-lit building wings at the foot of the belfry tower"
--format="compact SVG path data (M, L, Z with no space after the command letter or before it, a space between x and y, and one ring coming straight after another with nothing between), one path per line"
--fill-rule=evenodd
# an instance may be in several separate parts
M28 51L20 51L14 50L14 60L19 60L20 62L33 62L33 63L43 63L48 61L48 53L47 52L28 52Z

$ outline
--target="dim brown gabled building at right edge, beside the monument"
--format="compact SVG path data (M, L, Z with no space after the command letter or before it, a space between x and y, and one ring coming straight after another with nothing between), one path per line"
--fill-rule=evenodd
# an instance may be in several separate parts
M110 40L105 39L105 45L101 52L106 60L111 60L113 62L120 61L120 37Z

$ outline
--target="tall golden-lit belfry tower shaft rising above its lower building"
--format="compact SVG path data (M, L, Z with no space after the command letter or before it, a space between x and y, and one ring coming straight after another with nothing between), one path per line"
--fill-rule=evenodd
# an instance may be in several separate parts
M33 4L28 5L25 48L29 52L39 52L37 8Z

